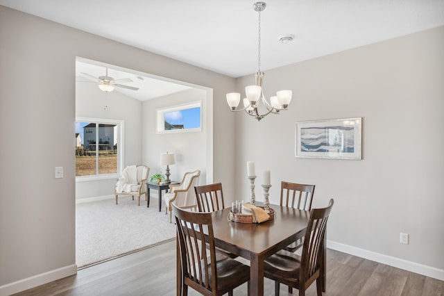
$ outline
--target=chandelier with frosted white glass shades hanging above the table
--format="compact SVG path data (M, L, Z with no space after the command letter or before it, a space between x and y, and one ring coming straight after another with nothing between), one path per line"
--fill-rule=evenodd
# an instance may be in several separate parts
M259 13L259 38L258 38L258 49L259 55L257 56L257 66L258 70L255 74L255 85L248 85L245 88L246 98L244 98L244 108L237 108L239 106L239 102L241 101L241 94L239 92L230 92L227 94L227 103L230 106L232 111L246 111L246 113L250 116L253 116L257 119L257 121L262 120L268 114L279 114L280 110L287 110L287 107L291 101L291 90L280 90L276 92L276 95L270 98L270 102L268 102L264 97L264 88L263 88L263 80L264 80L264 72L261 72L261 12L266 8L265 2L256 2L253 4L253 8L255 11ZM262 102L264 105L264 113L259 113L258 106Z

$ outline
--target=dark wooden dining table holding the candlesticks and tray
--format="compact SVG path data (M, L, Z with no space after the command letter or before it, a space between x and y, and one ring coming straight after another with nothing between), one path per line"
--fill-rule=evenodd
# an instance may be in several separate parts
M250 295L264 295L264 259L305 236L309 221L309 211L274 204L271 208L275 211L274 219L260 224L228 220L231 208L212 213L216 247L250 261ZM325 255L325 242L323 246ZM325 291L325 256L322 265L321 274ZM178 272L180 272L179 267ZM180 286L178 286L178 295L180 295Z

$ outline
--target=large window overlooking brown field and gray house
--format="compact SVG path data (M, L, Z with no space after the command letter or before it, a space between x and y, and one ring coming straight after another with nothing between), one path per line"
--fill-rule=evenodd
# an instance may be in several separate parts
M114 177L120 172L122 126L117 120L76 120L76 177Z

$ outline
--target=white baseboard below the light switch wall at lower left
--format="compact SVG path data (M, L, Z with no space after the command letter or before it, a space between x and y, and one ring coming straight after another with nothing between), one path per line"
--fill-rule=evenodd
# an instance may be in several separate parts
M0 286L0 296L7 296L15 293L28 290L44 283L49 283L51 281L56 281L57 279L62 279L64 277L69 277L70 275L77 273L77 265L68 265L64 268L58 268L56 270L51 270L49 272L44 272L42 274L34 275L33 277L28 277L27 279L21 279L13 283L7 283L6 285Z

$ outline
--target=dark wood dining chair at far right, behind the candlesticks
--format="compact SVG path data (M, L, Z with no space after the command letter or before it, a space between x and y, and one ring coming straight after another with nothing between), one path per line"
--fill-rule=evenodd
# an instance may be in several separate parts
M280 186L280 205L311 211L311 203L314 196L314 185L291 183L282 181ZM303 239L296 240L285 247L289 252L296 252L302 247ZM289 290L291 292L291 290Z

